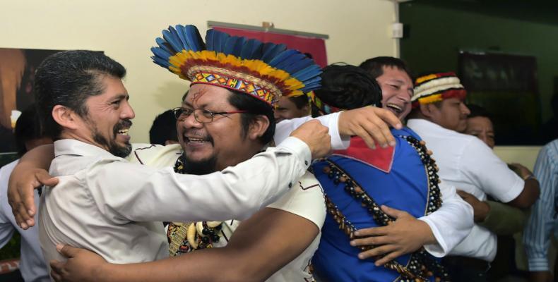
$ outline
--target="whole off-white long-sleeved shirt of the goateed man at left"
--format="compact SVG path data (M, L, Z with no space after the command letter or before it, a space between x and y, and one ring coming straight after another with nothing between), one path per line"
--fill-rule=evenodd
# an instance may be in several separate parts
M295 137L205 176L131 164L78 140L57 140L54 150L49 173L59 184L44 190L39 213L47 261L65 260L57 243L113 263L168 257L160 221L247 219L290 190L311 161L308 146Z

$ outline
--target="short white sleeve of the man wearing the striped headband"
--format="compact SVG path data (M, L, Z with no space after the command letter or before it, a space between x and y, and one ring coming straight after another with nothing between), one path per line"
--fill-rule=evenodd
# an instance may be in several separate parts
M504 203L514 200L525 185L523 179L478 138L472 138L465 147L459 170L470 183Z

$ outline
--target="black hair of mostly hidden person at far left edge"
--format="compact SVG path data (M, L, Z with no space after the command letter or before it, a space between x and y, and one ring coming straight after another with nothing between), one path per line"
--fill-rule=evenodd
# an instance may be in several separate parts
M31 104L23 110L18 121L16 121L13 136L16 137L16 146L18 147L18 155L20 157L27 152L25 142L43 137L35 104Z

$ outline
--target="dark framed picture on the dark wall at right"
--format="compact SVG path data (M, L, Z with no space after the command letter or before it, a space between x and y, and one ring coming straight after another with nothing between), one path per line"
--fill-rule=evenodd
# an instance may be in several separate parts
M540 96L534 56L461 51L458 75L467 103L492 115L497 145L540 145Z

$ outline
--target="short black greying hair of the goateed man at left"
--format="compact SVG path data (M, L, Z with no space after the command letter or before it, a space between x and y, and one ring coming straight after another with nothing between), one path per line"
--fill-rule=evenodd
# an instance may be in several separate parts
M61 51L42 61L35 75L35 101L45 135L57 140L61 133L61 126L52 118L56 105L79 116L88 114L85 100L105 91L103 75L121 79L126 68L100 51Z

